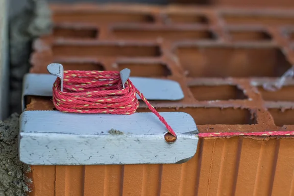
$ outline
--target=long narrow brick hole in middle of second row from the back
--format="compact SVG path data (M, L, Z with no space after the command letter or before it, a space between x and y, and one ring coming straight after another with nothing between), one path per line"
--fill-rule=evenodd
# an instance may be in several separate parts
M114 29L116 38L146 40L163 38L166 40L216 39L210 30L163 30L163 29Z

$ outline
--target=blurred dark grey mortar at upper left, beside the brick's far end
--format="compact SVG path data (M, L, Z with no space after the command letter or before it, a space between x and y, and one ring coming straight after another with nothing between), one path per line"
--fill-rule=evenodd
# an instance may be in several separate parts
M31 43L51 31L51 11L46 0L28 0L28 7L9 21L11 113L21 113L23 77L30 67Z

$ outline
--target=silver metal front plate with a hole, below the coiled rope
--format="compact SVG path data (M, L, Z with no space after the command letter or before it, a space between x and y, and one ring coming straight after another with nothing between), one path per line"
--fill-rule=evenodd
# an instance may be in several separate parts
M25 111L20 117L19 156L30 165L109 165L184 163L196 153L198 130L183 112L160 113L177 134L153 113L132 115Z

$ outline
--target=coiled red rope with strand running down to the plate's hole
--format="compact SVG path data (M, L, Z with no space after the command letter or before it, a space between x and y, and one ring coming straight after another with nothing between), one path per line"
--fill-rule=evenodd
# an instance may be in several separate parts
M59 77L53 84L53 103L62 112L130 115L139 107L138 94L151 112L165 124L169 133L176 137L172 127L130 79L124 86L120 73L116 71L64 71L63 92Z

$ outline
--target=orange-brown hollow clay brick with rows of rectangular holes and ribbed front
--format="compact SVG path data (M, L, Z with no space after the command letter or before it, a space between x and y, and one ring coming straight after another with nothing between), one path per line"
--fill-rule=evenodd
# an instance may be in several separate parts
M200 133L294 130L294 82L278 92L253 85L276 79L294 63L287 27L294 23L293 10L119 4L51 9L55 28L34 42L31 73L47 73L53 62L66 70L128 67L132 76L178 81L184 99L151 103L159 112L189 113ZM27 102L27 110L54 108L49 98ZM148 109L141 103L138 111ZM32 166L30 196L290 196L293 147L292 137L201 138L184 164Z

